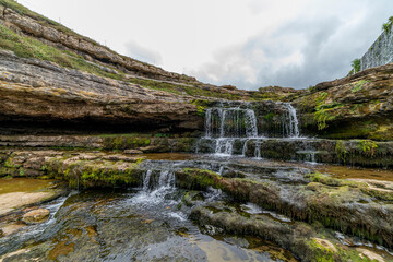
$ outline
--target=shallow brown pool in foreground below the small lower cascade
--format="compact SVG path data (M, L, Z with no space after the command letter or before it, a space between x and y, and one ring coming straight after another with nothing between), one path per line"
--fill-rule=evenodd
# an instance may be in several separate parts
M27 249L4 261L296 261L273 243L202 233L177 209L181 196L82 191L49 204L56 215L46 225L1 239L0 255Z

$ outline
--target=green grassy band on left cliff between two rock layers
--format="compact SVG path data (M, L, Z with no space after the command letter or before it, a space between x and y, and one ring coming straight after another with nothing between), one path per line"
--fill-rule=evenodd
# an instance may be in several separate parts
M121 79L121 75L108 73L98 67L88 63L81 56L47 46L31 37L21 36L3 25L0 25L0 48L11 50L21 58L36 58L55 62L64 68L76 69L99 76Z

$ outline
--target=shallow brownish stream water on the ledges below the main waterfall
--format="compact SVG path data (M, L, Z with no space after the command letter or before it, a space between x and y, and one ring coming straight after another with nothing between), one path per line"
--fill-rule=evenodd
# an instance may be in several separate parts
M28 226L16 235L0 238L0 261L2 255L5 255L4 262L296 261L290 252L274 243L247 236L223 235L219 231L217 234L215 228L206 230L195 226L188 218L189 211L179 209L186 191L174 187L170 174L166 170L199 167L223 176L233 171L252 179L288 183L288 190L296 187L294 182L303 182L303 175L313 170L340 178L376 179L374 175L380 175L381 179L389 180L392 175L389 170L307 165L240 156L212 157L177 153L144 156L148 160L143 165L146 170L152 170L150 175L146 171L144 187L129 190L86 190L46 204L44 207L51 212L47 223ZM167 178L167 181L162 178ZM50 184L50 180L2 179L0 193L12 192L10 190L43 190ZM219 191L211 190L203 194L205 203L215 200L228 201ZM282 223L291 223L285 216L251 203L236 207L250 214L267 215ZM14 251L22 252L7 257Z

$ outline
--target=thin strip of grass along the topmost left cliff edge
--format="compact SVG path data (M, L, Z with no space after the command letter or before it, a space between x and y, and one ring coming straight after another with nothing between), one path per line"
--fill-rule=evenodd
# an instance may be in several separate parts
M22 4L17 3L16 1L13 0L0 0L0 4L14 10L15 12L17 12L20 15L26 15L29 16L34 20L36 20L39 24L41 25L48 25L51 26L62 33L69 34L69 35L73 35L76 36L78 38L83 38L90 43L92 43L93 45L99 45L97 41L85 37L85 36L81 36L79 34L76 34L75 32L73 32L72 29L63 26L62 24L55 22L48 17L45 17L44 15L40 15L36 12L33 12L32 10L27 9L26 7L23 7Z

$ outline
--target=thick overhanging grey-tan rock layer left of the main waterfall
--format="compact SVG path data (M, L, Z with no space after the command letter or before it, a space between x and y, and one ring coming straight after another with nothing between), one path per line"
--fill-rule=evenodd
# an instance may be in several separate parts
M195 130L184 96L0 53L0 126L28 130Z

